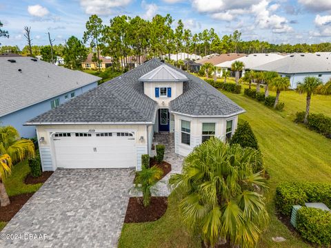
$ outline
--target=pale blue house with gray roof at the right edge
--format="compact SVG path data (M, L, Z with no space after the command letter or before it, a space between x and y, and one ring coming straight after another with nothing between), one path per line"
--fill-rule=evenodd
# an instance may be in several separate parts
M297 88L297 83L302 82L305 76L316 76L326 83L331 79L331 53L290 54L252 70L278 72L281 76L287 76L291 89Z

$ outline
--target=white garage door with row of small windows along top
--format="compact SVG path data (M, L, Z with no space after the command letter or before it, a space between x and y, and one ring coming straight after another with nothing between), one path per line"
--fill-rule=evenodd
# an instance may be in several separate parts
M53 134L55 159L61 168L135 167L133 132Z

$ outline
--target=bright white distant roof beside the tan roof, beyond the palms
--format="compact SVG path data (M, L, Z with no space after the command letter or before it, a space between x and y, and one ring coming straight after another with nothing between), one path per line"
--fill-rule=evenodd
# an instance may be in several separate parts
M232 61L226 61L223 63L219 63L216 65L219 68L231 68L231 65L234 61L241 61L245 64L245 69L252 69L259 65L263 65L265 63L269 63L272 61L277 61L277 59L282 59L284 56L280 54L275 53L269 53L269 54L249 54L245 55L239 59L234 59Z

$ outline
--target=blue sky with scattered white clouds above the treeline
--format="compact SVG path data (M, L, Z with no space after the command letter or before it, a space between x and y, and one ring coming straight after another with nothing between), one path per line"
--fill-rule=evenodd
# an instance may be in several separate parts
M48 44L47 32L55 43L74 35L81 39L91 14L106 24L119 14L151 19L170 13L186 28L200 32L214 28L223 36L234 30L244 40L272 43L320 43L331 41L331 0L0 0L0 20L10 38L2 45L23 48L23 26L31 26L32 43Z

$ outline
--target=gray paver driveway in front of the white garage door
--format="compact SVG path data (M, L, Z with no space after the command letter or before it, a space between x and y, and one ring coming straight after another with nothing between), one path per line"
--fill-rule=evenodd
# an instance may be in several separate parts
M47 239L0 240L0 247L117 247L131 172L57 169L0 232L46 234Z

